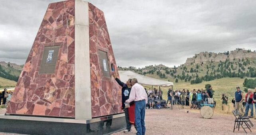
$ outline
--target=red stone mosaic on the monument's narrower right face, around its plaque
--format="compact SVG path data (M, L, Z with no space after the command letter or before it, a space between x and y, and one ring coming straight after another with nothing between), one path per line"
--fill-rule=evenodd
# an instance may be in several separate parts
M104 14L92 4L89 4L89 23L92 116L117 114L122 112L121 87L113 77L102 76L98 50L108 52L109 66L114 64L117 72L116 62Z

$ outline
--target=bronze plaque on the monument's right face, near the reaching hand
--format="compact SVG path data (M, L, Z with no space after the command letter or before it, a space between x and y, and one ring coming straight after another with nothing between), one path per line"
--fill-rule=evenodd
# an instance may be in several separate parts
M105 77L111 77L108 65L108 55L107 52L102 50L98 50L98 59L100 62L100 68L102 71L102 75Z

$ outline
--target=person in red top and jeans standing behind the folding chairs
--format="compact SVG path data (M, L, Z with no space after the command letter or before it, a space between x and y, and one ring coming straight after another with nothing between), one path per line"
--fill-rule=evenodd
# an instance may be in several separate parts
M251 110L251 116L248 116L250 118L253 117L253 93L251 89L248 89L248 93L245 95L245 115L248 116L249 108Z

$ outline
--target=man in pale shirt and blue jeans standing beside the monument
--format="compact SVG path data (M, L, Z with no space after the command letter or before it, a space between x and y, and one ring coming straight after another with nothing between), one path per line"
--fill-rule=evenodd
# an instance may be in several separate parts
M136 78L132 79L132 90L129 96L129 99L126 100L126 103L135 101L135 125L137 126L137 135L145 135L145 110L146 103L148 102L148 95L144 87L138 84Z

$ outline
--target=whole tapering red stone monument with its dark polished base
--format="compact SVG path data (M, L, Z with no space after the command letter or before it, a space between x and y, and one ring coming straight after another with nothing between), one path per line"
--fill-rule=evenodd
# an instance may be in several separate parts
M102 134L122 129L114 70L118 73L103 12L83 0L49 4L6 115L0 116L1 125L17 124L0 131Z

